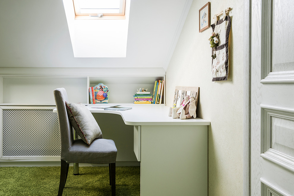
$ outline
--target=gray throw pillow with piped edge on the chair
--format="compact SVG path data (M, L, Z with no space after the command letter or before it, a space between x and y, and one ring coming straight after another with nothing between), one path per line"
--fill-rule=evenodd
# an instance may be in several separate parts
M70 102L65 105L70 124L84 142L90 145L95 138L103 138L99 125L85 105Z

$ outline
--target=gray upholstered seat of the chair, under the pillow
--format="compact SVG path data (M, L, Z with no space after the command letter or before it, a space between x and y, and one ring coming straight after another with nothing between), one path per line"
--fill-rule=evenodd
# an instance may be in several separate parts
M108 164L116 162L117 149L113 140L95 139L90 145L77 139L61 159L71 163Z

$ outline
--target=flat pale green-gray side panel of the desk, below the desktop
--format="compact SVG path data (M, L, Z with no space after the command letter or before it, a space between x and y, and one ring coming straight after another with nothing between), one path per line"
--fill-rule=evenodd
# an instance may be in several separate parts
M141 195L208 195L208 126L141 126Z

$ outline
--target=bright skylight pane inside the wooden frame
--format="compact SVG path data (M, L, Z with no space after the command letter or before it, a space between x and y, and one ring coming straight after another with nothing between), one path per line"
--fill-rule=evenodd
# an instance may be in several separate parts
M126 0L73 0L75 15L125 15Z

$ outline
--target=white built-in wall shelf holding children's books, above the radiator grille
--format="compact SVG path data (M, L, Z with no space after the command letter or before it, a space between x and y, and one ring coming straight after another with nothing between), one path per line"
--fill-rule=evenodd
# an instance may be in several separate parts
M165 80L159 68L0 68L0 73L1 105L55 105L53 90L61 87L70 102L89 104L88 88L98 83L108 86L109 103L129 103L137 89L152 94L155 80Z

